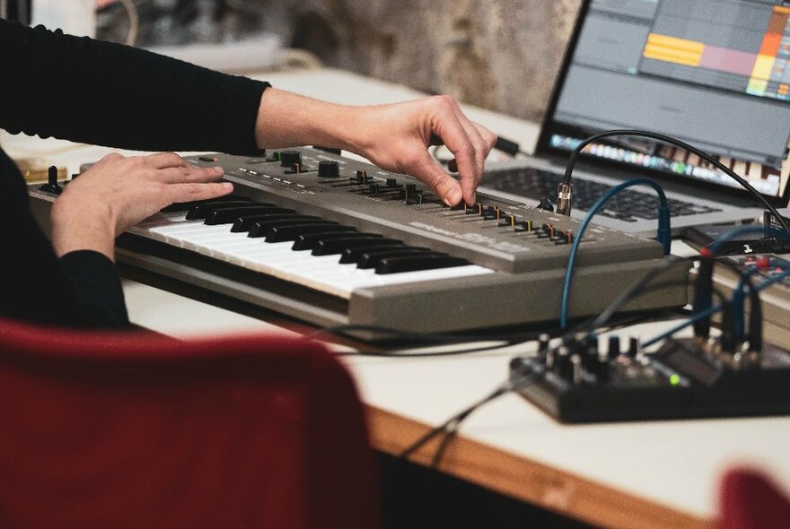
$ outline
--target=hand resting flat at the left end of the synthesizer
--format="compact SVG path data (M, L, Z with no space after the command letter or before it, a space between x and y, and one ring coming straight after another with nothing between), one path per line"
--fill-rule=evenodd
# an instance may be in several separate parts
M55 253L91 249L112 259L115 238L163 207L233 191L230 183L211 183L222 176L222 168L198 168L173 152L108 154L70 182L52 206Z

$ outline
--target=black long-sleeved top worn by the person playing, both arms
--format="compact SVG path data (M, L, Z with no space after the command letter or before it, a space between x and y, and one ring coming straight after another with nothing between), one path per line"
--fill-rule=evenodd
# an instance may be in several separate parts
M146 151L255 153L268 83L136 48L0 20L0 127ZM52 325L127 323L114 265L95 252L58 262L22 175L0 151L0 317Z

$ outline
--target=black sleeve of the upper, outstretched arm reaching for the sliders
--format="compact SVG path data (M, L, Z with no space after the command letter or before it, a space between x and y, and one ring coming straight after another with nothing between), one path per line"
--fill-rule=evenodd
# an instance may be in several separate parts
M145 151L258 151L266 82L0 20L0 127Z

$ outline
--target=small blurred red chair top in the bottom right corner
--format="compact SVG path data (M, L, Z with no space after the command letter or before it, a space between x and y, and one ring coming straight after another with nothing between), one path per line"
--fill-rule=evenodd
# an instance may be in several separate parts
M790 499L763 474L733 469L724 475L718 529L790 527Z

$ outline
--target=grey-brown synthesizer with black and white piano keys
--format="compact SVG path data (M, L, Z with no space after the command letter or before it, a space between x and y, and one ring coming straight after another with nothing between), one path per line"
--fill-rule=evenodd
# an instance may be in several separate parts
M316 325L443 332L556 322L579 221L478 193L450 208L414 178L317 148L189 158L220 165L233 196L174 204L118 238L119 263ZM31 186L48 226L55 196ZM591 226L570 302L597 314L663 259L648 238ZM628 310L686 303L689 266Z

